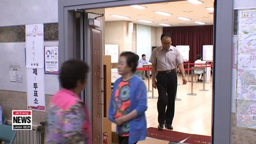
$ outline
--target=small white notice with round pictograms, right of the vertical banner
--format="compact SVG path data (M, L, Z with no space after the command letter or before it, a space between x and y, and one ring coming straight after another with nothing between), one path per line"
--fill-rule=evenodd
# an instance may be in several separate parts
M44 70L46 74L58 74L58 46L44 47Z

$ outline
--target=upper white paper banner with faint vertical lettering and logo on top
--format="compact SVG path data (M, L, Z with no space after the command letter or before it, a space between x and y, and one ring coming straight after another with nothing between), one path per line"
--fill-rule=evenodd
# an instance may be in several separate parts
M44 67L43 43L43 23L26 25L26 67Z

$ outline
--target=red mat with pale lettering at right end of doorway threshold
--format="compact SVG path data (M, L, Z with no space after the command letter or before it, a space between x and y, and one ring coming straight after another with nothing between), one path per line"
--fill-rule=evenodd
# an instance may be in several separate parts
M211 142L212 142L212 137L202 136L197 134L194 134L193 136L189 137L187 140L184 141L184 143L194 143L194 144L201 144L201 143L211 144Z

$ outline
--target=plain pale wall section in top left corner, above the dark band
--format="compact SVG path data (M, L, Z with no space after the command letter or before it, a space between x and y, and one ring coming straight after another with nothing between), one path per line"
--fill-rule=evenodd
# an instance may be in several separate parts
M0 0L0 26L58 22L58 0Z

